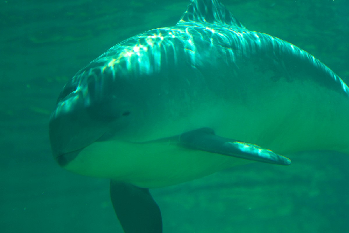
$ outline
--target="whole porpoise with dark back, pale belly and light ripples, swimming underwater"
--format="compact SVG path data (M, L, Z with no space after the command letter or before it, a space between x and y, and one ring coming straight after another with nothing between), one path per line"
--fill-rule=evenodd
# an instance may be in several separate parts
M349 154L347 85L311 54L246 29L219 0L113 46L77 72L52 112L53 156L111 180L126 233L161 233L149 188L299 151Z

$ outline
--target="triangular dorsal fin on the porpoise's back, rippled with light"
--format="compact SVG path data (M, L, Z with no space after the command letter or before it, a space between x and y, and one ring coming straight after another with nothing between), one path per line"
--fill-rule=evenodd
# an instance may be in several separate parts
M177 25L184 22L218 23L245 28L219 0L192 0Z

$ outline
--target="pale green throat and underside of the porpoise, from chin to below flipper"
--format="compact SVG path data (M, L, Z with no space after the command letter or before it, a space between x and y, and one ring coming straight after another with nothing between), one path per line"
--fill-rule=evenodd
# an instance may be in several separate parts
M74 173L105 177L138 187L156 188L203 177L252 161L190 150L169 143L95 142L65 168Z

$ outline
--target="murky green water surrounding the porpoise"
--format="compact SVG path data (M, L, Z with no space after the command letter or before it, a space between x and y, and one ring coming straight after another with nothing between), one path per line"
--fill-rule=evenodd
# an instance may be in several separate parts
M130 36L176 24L188 2L0 2L0 232L122 232L109 180L53 160L50 113L83 66ZM349 82L347 0L222 2L248 29L305 49ZM349 232L349 157L288 157L288 167L256 162L151 190L163 232Z

